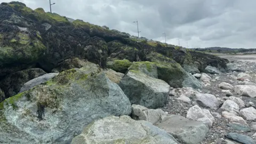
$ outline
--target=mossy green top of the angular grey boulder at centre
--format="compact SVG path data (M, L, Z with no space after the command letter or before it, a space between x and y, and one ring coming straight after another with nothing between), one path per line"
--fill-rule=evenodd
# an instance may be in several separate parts
M132 65L128 70L138 70L150 77L158 78L156 63L149 61L137 61L132 62Z

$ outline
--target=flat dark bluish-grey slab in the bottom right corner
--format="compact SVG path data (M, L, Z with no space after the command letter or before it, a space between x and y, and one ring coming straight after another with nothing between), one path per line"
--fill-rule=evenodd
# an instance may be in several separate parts
M228 133L225 135L227 138L241 142L243 144L254 144L256 141L254 141L252 138L248 137L247 135L239 134L239 133Z

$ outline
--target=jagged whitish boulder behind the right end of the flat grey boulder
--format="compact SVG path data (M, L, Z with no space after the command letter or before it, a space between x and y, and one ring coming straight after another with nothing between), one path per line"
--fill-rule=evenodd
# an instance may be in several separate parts
M188 109L186 117L193 121L202 122L205 125L208 125L209 127L212 127L212 124L215 121L214 117L212 116L209 110L202 110L197 105Z

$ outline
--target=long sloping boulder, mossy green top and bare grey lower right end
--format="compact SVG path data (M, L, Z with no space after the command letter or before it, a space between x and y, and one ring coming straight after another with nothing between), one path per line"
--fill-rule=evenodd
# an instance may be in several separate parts
M146 58L156 63L158 78L164 80L170 86L175 88L193 87L196 89L201 87L199 81L173 59L156 52L150 52Z

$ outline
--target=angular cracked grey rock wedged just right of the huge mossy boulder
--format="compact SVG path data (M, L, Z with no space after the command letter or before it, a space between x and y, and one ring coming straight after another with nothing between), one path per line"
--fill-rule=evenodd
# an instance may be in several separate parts
M140 105L132 105L132 118L135 120L145 120L155 124L165 115L167 114L161 109L148 109Z

